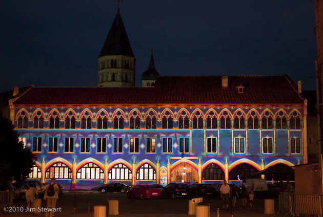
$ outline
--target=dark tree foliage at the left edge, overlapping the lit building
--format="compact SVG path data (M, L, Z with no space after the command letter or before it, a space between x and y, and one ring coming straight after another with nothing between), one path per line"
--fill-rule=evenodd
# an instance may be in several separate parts
M36 156L19 142L19 134L8 118L0 118L0 179L22 181L28 178Z

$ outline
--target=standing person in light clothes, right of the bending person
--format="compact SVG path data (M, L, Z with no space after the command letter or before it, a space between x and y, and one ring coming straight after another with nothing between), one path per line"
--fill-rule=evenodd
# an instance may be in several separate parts
M56 184L55 178L52 178L51 183L44 187L44 200L47 200L46 217L52 217L54 215L54 208L56 208L56 201L58 199L58 189L59 187Z

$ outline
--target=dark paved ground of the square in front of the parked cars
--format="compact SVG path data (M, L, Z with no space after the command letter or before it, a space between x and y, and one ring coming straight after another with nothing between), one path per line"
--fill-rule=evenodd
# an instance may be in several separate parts
M93 191L70 191L66 192L57 201L57 208L61 208L62 212L55 216L73 216L74 198L76 199L76 216L88 216L89 206L90 215L93 216L93 207L96 205L107 205L107 199L119 201L120 216L142 216L154 214L155 216L163 216L164 214L174 214L178 216L188 215L188 199L128 199L125 193L100 193ZM217 208L221 208L220 199L205 199L199 205L210 204L211 216L216 216ZM15 200L15 207L26 207L24 200ZM46 201L43 200L42 206L46 207ZM278 200L275 199L275 210L278 212ZM230 216L231 211L221 210L221 216ZM241 207L241 201L238 199L237 207L232 209L234 216L261 216L264 213L264 198L256 198L253 208ZM9 213L12 216L34 216L22 212ZM270 216L270 215L266 215Z

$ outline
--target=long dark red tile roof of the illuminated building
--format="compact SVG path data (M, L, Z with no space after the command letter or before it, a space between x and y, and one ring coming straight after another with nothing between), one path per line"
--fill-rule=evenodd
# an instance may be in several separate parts
M245 86L238 93L236 86ZM304 103L287 76L160 76L148 87L34 87L14 104L253 104Z

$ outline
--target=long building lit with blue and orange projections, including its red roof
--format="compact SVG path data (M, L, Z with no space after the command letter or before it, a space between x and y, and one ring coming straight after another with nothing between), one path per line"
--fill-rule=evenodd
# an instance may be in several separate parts
M110 73L114 54L106 54ZM287 75L154 79L143 87L29 86L15 95L10 117L38 158L30 179L55 177L72 189L234 182L277 163L307 163L307 100Z

